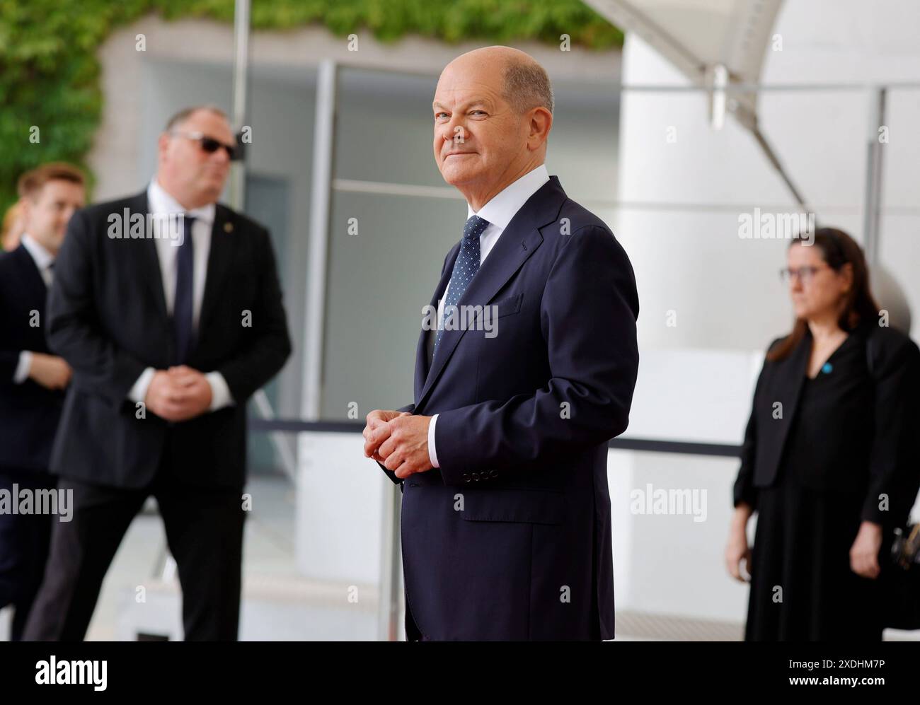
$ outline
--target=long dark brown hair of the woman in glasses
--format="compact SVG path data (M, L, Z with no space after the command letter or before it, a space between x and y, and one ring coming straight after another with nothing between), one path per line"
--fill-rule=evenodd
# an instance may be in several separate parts
M793 240L789 246L804 245ZM814 232L814 241L811 246L817 246L821 250L828 267L836 272L839 272L846 264L853 266L853 286L846 292L837 324L849 332L859 324L865 324L879 315L879 304L875 302L868 284L866 257L857 242L837 228L818 228ZM797 318L792 332L777 343L776 347L767 353L766 358L770 362L787 358L807 332L808 322L804 318Z

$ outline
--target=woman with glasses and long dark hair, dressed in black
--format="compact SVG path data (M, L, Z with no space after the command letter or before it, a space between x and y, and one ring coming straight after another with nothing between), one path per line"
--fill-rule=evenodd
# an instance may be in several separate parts
M887 327L846 233L807 243L782 271L796 322L757 380L725 558L751 576L746 640L880 641L882 553L920 482L920 350Z

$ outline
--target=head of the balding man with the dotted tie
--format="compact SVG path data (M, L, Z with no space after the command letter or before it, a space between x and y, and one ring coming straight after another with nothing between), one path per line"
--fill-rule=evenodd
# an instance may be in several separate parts
M432 108L438 168L476 210L544 162L553 91L524 51L496 46L461 54L444 67Z

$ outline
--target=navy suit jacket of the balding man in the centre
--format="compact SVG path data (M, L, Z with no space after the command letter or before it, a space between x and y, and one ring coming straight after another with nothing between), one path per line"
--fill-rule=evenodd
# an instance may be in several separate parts
M496 306L498 329L445 331L431 370L419 338L405 408L440 414L441 467L403 484L409 638L612 639L607 441L638 371L626 253L551 176L459 304Z

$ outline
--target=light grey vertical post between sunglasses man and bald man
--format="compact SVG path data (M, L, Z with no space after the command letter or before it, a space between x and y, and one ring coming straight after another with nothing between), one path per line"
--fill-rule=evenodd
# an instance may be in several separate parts
M301 404L301 416L307 421L319 420L322 403L323 330L326 317L337 73L336 63L327 59L319 64L316 75L316 124L313 131L313 185L304 323L304 389Z

